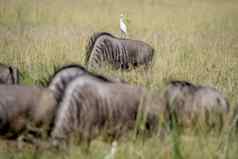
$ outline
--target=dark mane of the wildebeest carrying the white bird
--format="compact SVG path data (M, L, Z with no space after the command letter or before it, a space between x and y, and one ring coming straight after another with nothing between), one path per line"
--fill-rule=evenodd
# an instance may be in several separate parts
M96 32L94 33L88 40L88 44L86 45L86 57L85 57L85 64L87 65L89 58L91 56L91 52L93 50L93 46L96 43L97 39L102 36L102 35L107 35L113 37L112 34L107 33L107 32Z

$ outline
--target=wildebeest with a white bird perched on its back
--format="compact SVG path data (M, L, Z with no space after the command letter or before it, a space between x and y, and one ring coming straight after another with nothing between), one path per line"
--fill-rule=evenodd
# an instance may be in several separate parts
M153 56L154 49L143 41L98 32L89 39L85 62L89 69L102 67L105 63L115 69L128 69L130 66L148 66Z

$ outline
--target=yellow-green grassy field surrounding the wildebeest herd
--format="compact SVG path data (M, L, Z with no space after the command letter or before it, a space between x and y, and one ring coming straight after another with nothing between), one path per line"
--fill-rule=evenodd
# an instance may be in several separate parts
M232 108L238 104L237 0L0 0L0 62L17 66L21 83L37 84L54 65L84 64L93 32L120 35L120 13L129 19L129 37L155 48L154 65L149 73L100 73L153 89L163 89L170 79L189 80L222 91ZM236 159L237 137L229 125L220 134L175 131L145 142L129 137L119 143L115 158ZM88 155L74 145L65 154L0 142L0 159L104 159L109 151L100 140Z

